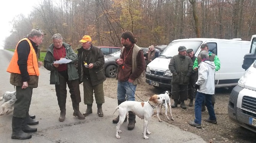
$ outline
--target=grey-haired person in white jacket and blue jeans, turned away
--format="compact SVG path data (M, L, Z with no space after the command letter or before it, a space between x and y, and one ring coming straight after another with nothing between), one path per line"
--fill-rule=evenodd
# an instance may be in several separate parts
M194 121L190 121L189 124L196 128L201 128L201 106L204 99L206 99L206 107L209 113L209 118L204 119L206 122L217 124L217 120L214 113L214 108L212 106L212 95L214 94L214 73L215 64L209 60L209 55L207 51L201 51L199 54L202 62L199 64L198 69L198 81L196 81L195 89L197 89L194 113Z

